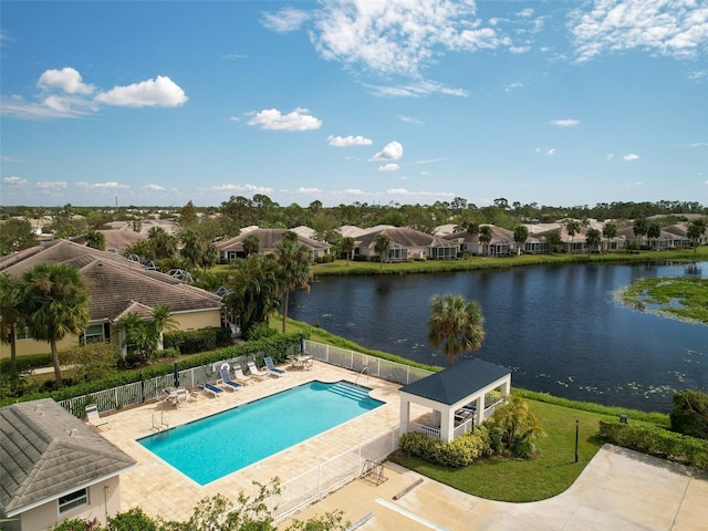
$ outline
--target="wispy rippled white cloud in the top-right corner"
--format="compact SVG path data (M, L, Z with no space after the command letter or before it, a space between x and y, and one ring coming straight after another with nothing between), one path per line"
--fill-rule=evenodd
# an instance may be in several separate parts
M695 58L708 42L708 4L685 0L596 1L569 15L576 61L642 50Z

